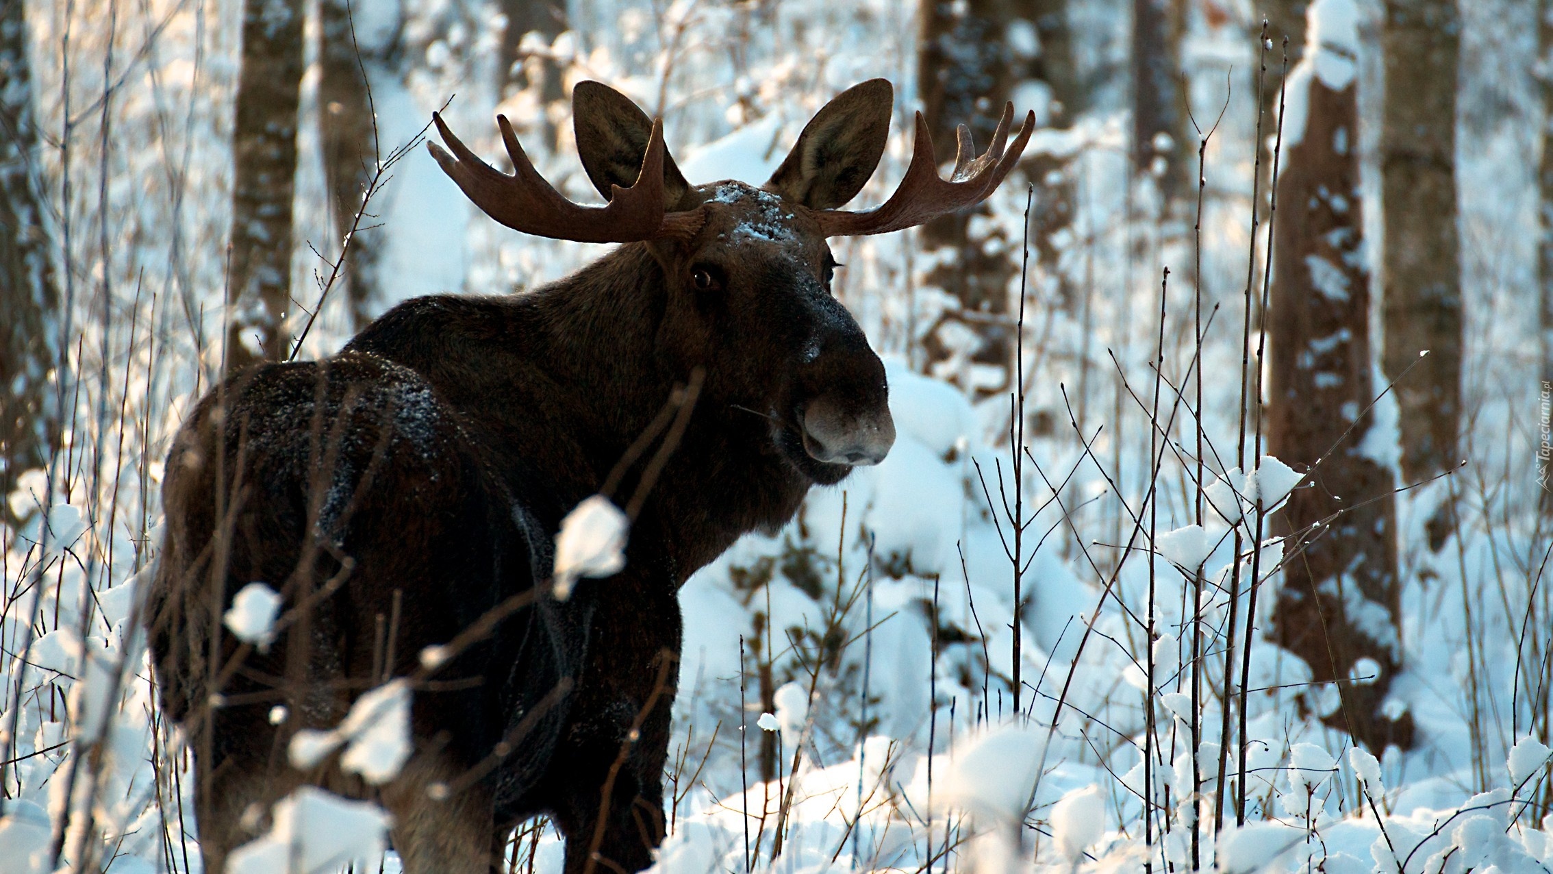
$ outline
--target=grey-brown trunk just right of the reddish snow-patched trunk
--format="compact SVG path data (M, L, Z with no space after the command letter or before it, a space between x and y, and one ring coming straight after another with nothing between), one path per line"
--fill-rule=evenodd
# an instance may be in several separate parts
M1455 202L1460 33L1455 0L1385 3L1382 365L1385 376L1398 380L1402 477L1409 481L1460 463L1461 264ZM1419 362L1424 349L1429 355ZM1402 371L1415 362L1404 379Z

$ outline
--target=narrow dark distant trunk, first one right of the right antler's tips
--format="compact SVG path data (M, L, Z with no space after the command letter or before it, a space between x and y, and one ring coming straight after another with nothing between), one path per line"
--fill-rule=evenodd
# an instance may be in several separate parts
M1132 160L1159 180L1166 213L1197 166L1180 67L1185 29L1182 0L1132 0Z

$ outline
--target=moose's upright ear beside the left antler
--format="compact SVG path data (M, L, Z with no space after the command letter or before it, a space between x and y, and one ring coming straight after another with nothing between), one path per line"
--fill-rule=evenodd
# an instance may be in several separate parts
M593 188L610 199L613 185L631 188L641 175L652 120L631 98L603 82L578 82L572 88L572 129L578 157ZM674 210L690 191L668 149L663 152L663 205Z

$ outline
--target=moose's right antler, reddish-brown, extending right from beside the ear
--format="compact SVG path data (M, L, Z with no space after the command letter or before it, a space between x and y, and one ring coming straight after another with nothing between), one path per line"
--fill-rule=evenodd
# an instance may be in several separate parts
M1009 102L1003 107L1003 118L997 123L992 144L977 158L972 158L975 144L971 141L971 130L961 124L955 132L958 141L955 169L949 174L949 180L944 180L938 175L938 158L933 154L933 138L927 132L927 121L918 112L912 163L907 165L905 175L895 194L879 206L862 213L817 210L812 214L820 224L820 230L825 236L882 234L922 225L938 216L981 202L1014 169L1030 135L1036 130L1036 113L1027 113L1019 135L1005 151L1008 126L1013 120L1014 104Z

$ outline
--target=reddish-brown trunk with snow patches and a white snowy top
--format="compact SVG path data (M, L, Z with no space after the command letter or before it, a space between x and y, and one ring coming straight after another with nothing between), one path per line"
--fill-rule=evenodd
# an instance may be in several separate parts
M1401 658L1399 579L1393 473L1365 453L1371 419L1360 416L1374 380L1357 48L1354 2L1317 0L1306 57L1289 82L1278 179L1267 449L1314 466L1309 487L1295 489L1273 523L1275 534L1289 534L1273 636L1311 666L1311 708L1379 751L1409 747L1413 725L1382 713Z

